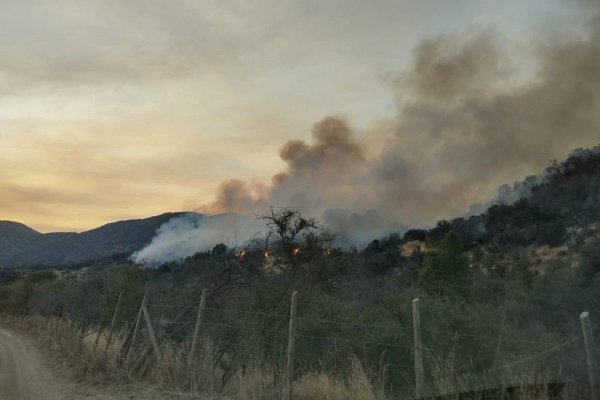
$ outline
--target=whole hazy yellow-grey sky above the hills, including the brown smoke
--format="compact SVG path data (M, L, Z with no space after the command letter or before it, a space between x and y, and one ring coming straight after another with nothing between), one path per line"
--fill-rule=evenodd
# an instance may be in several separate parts
M270 204L458 215L600 142L597 11L0 0L0 219L50 232Z

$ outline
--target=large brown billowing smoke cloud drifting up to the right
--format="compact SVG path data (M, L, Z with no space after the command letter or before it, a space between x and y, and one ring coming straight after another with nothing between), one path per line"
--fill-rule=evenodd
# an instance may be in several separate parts
M327 117L311 142L283 145L287 167L269 184L224 182L198 209L296 207L346 241L362 241L490 199L513 202L527 185L496 192L500 185L600 138L600 19L531 48L535 69L524 77L493 31L424 40L412 65L389 80L396 115L359 134L345 118Z

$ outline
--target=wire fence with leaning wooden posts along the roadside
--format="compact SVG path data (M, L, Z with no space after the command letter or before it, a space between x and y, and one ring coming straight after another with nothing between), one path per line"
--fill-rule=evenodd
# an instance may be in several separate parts
M540 338L530 342L519 338L532 350L512 354L501 325L496 337L432 329L423 323L418 299L412 302L412 326L400 326L389 320L359 323L305 317L296 311L296 292L289 312L212 306L208 297L205 289L198 301L184 304L146 290L135 307L123 306L119 294L112 299L112 315L104 318L63 314L81 325L82 335L95 332L94 351L106 352L115 335L121 337L118 362L130 376L144 374L150 363L160 363L166 346L186 353L190 370L204 362L203 353L210 351L211 362L222 370L225 381L260 358L277 366L274 374L284 388L281 396L290 400L295 378L315 369L343 374L348 365L358 362L382 393L395 399L509 386L523 379L529 383L561 380L585 365L590 398L598 400L596 353L587 312L580 316L581 335L556 338L549 345L540 343ZM99 348L101 336L106 339ZM201 345L206 340L211 343L209 350ZM437 348L430 346L433 342L439 344Z

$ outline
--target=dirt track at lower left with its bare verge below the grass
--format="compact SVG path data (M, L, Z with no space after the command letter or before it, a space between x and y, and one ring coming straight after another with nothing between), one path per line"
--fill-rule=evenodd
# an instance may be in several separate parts
M32 342L0 327L0 400L183 399L143 386L90 386L53 371Z

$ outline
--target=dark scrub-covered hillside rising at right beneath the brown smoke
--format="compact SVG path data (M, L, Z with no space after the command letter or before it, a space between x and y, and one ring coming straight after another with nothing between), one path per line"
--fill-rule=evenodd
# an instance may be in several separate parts
M578 149L538 176L543 179L516 184L524 196L513 203L372 241L362 253L366 272L412 271L408 280L414 284L422 255L455 232L477 270L504 276L517 269L540 274L582 266L591 278L600 270L600 147Z

